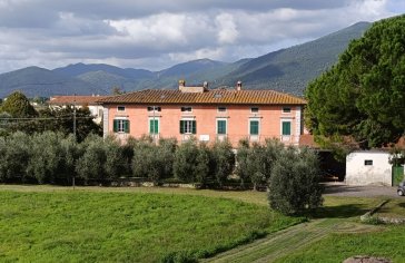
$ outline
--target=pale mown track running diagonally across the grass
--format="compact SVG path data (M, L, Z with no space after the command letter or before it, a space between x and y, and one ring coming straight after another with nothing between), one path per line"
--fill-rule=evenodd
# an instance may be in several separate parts
M314 220L201 262L273 262L334 232L357 233L375 228L377 226L357 224L339 218Z

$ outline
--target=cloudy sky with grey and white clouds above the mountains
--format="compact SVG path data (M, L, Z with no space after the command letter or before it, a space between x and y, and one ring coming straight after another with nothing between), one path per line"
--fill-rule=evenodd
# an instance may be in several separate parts
M0 0L0 72L236 61L404 12L404 0Z

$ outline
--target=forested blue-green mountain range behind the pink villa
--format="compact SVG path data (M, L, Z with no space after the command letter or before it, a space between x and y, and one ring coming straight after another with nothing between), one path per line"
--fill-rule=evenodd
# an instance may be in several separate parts
M314 41L236 62L198 59L160 71L119 68L110 65L76 64L48 70L28 67L0 75L0 97L20 90L28 97L53 95L111 94L115 87L131 91L146 88L176 88L209 82L209 87L234 87L241 80L247 89L275 89L302 95L306 85L334 65L349 41L359 38L368 22L358 22Z

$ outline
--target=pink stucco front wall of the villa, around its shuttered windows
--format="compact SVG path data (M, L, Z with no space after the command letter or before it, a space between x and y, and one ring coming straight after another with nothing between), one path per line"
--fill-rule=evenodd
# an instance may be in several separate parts
M139 138L149 134L149 118L154 118L152 113L148 113L147 107L151 105L122 105L125 111L117 110L118 105L106 105L108 109L108 134L113 134L112 121L115 118L128 118L130 120L129 135ZM218 113L218 105L192 105L192 113L181 113L180 107L187 105L156 105L161 107L160 113L155 113L155 118L159 119L159 136L164 138L176 137L178 142L185 139L179 132L179 120L181 118L194 118L197 121L197 139L202 137L209 142L217 139L217 118L227 119L227 137L234 147L241 138L249 138L249 119L257 118L260 123L259 136L250 137L251 140L264 142L265 138L278 138L285 144L298 144L302 132L302 107L297 106L248 106L248 105L224 105L226 113ZM251 107L258 107L259 111L253 114ZM290 113L283 113L283 107L290 107ZM297 110L299 113L297 113ZM281 120L292 121L292 135L281 136ZM106 121L106 120L105 120ZM116 134L125 138L128 135Z

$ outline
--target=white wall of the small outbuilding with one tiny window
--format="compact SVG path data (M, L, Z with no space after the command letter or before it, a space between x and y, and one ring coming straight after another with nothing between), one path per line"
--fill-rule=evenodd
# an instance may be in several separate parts
M384 152L354 152L346 157L346 184L392 185L389 154ZM373 165L365 165L365 162Z

